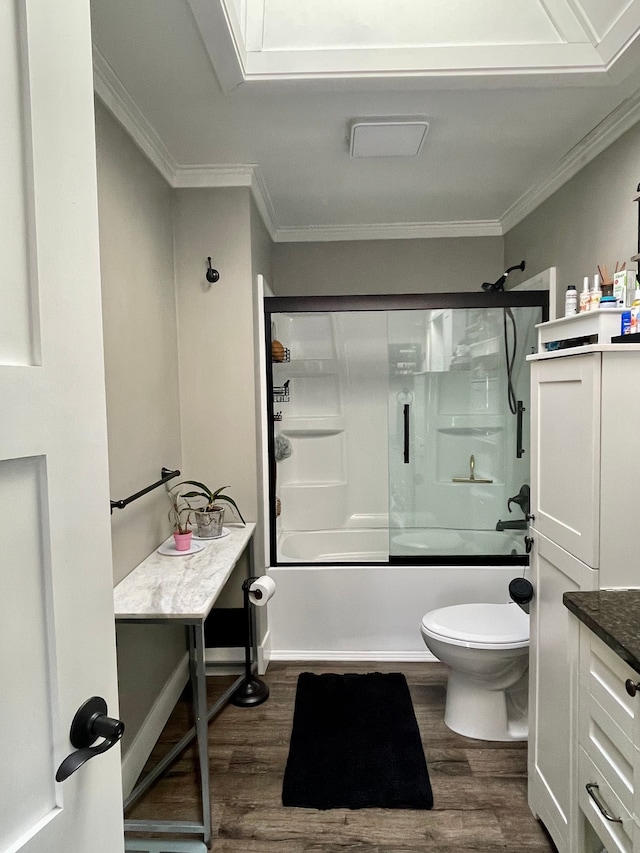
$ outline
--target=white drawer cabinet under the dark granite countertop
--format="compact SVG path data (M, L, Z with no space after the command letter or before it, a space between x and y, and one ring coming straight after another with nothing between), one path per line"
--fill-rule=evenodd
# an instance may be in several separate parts
M640 680L586 626L580 625L577 849L640 853Z

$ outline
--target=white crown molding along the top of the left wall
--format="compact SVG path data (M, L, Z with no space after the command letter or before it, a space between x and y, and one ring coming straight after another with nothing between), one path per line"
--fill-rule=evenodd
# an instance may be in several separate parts
M153 163L165 181L173 186L178 168L176 161L95 45L93 45L93 88L138 148Z

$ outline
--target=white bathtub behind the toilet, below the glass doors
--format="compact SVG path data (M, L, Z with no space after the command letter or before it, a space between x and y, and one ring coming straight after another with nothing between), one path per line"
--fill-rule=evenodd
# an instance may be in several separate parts
M427 611L474 601L508 602L509 581L528 573L523 566L380 565L387 559L386 530L340 531L345 535L338 548L329 544L331 533L284 534L282 544L291 559L305 562L313 550L322 563L269 569L277 586L269 602L266 652L273 660L433 660L420 635ZM494 531L486 533L489 537ZM511 533L524 535L505 531L512 544L516 537ZM422 547L413 540L405 545ZM371 564L331 565L361 563L371 553L376 555L367 558Z

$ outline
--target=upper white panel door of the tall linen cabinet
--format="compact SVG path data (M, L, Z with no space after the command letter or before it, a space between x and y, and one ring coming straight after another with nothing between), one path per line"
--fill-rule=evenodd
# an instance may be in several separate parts
M599 353L533 362L531 511L537 530L599 566Z

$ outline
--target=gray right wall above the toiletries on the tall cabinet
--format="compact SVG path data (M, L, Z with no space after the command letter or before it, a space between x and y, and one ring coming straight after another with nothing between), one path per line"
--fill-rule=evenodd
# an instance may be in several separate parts
M632 202L640 180L640 125L592 160L544 204L505 236L507 266L525 258L527 273L558 268L558 311L564 313L569 284L582 289L598 264L613 271L637 251L638 205Z

